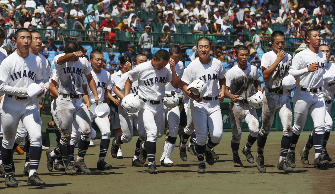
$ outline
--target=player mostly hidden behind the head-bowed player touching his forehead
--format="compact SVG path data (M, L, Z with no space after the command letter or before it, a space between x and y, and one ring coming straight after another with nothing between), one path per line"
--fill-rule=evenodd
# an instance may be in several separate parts
M129 58L129 57L128 57ZM127 62L131 62L130 59L127 58ZM126 58L123 58L126 59ZM142 54L136 54L134 56L134 63L133 65L136 67L137 65L144 63L148 60L148 58ZM122 61L121 63L125 64L125 61ZM119 82L116 83L114 87L114 93L122 100L124 98L124 86L125 82L128 79L128 72L124 73ZM137 80L134 81L131 85L130 93L137 94L138 93L138 83ZM146 138L146 131L142 124L138 120L138 113L130 114L127 113L124 109L121 108L121 105L119 105L119 118L120 118L120 125L122 129L122 135L119 135L118 138L113 142L112 146L114 146L114 150L117 150L119 148L120 144L128 143L133 138L133 126L136 127L138 131L138 139L136 141L135 146L135 154L131 161L131 166L133 167L144 167L144 165L139 160L140 155L140 143L145 140Z

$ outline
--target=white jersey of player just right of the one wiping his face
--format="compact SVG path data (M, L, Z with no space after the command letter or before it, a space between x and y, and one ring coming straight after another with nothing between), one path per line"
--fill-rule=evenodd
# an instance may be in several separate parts
M105 69L101 69L100 73L95 73L94 71L91 71L92 77L95 81L95 85L96 85L96 90L98 92L98 96L100 101L104 102L105 100L105 88L108 87L108 85L112 84L111 83L111 74L106 71ZM89 101L91 103L95 103L94 100L94 95L91 91L91 89L89 87L87 87L87 92L89 95Z

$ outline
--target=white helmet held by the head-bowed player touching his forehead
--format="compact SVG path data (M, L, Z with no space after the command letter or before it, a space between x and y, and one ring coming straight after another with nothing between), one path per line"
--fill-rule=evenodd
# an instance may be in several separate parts
M144 101L139 99L138 95L131 93L122 99L122 106L127 113L134 114L144 107Z

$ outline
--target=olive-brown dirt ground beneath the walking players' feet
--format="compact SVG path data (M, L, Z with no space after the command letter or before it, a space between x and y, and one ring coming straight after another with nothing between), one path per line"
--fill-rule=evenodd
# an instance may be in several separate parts
M197 174L197 158L188 155L188 161L183 162L176 147L172 160L175 167L160 167L159 175L147 173L147 167L131 167L131 160L137 137L122 145L123 159L112 158L110 153L106 162L113 165L108 171L98 171L96 162L99 156L99 140L90 147L85 156L91 175L63 175L63 172L49 172L46 168L45 151L39 168L40 178L47 183L44 188L26 185L27 177L23 176L25 155L14 154L16 179L18 188L5 188L4 176L0 178L0 193L333 193L335 165L333 162L323 170L316 170L313 165L300 163L299 150L306 143L309 132L303 132L297 145L296 168L291 173L284 173L276 168L280 153L282 132L271 132L264 149L267 173L259 173L256 161L249 164L242 154L248 133L244 132L240 146L242 168L232 164L230 149L231 133L223 133L222 142L215 147L220 156L213 166L206 163L206 174ZM179 142L179 140L177 140ZM335 135L328 141L328 152L335 159ZM163 138L157 142L156 162L160 164L160 153L163 150ZM257 154L257 143L252 147L254 157ZM75 153L77 152L77 149ZM314 151L310 153L310 163L313 163Z

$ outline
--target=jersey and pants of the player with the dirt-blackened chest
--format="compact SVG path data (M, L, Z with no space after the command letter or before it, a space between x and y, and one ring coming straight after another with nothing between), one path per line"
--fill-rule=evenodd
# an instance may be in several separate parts
M233 66L226 74L226 86L230 87L230 93L240 95L239 101L230 101L229 117L232 130L231 141L240 143L242 137L242 121L248 124L250 136L258 135L258 116L256 109L247 102L247 98L254 95L254 81L260 77L257 67L248 64L246 69L241 69L238 65Z

